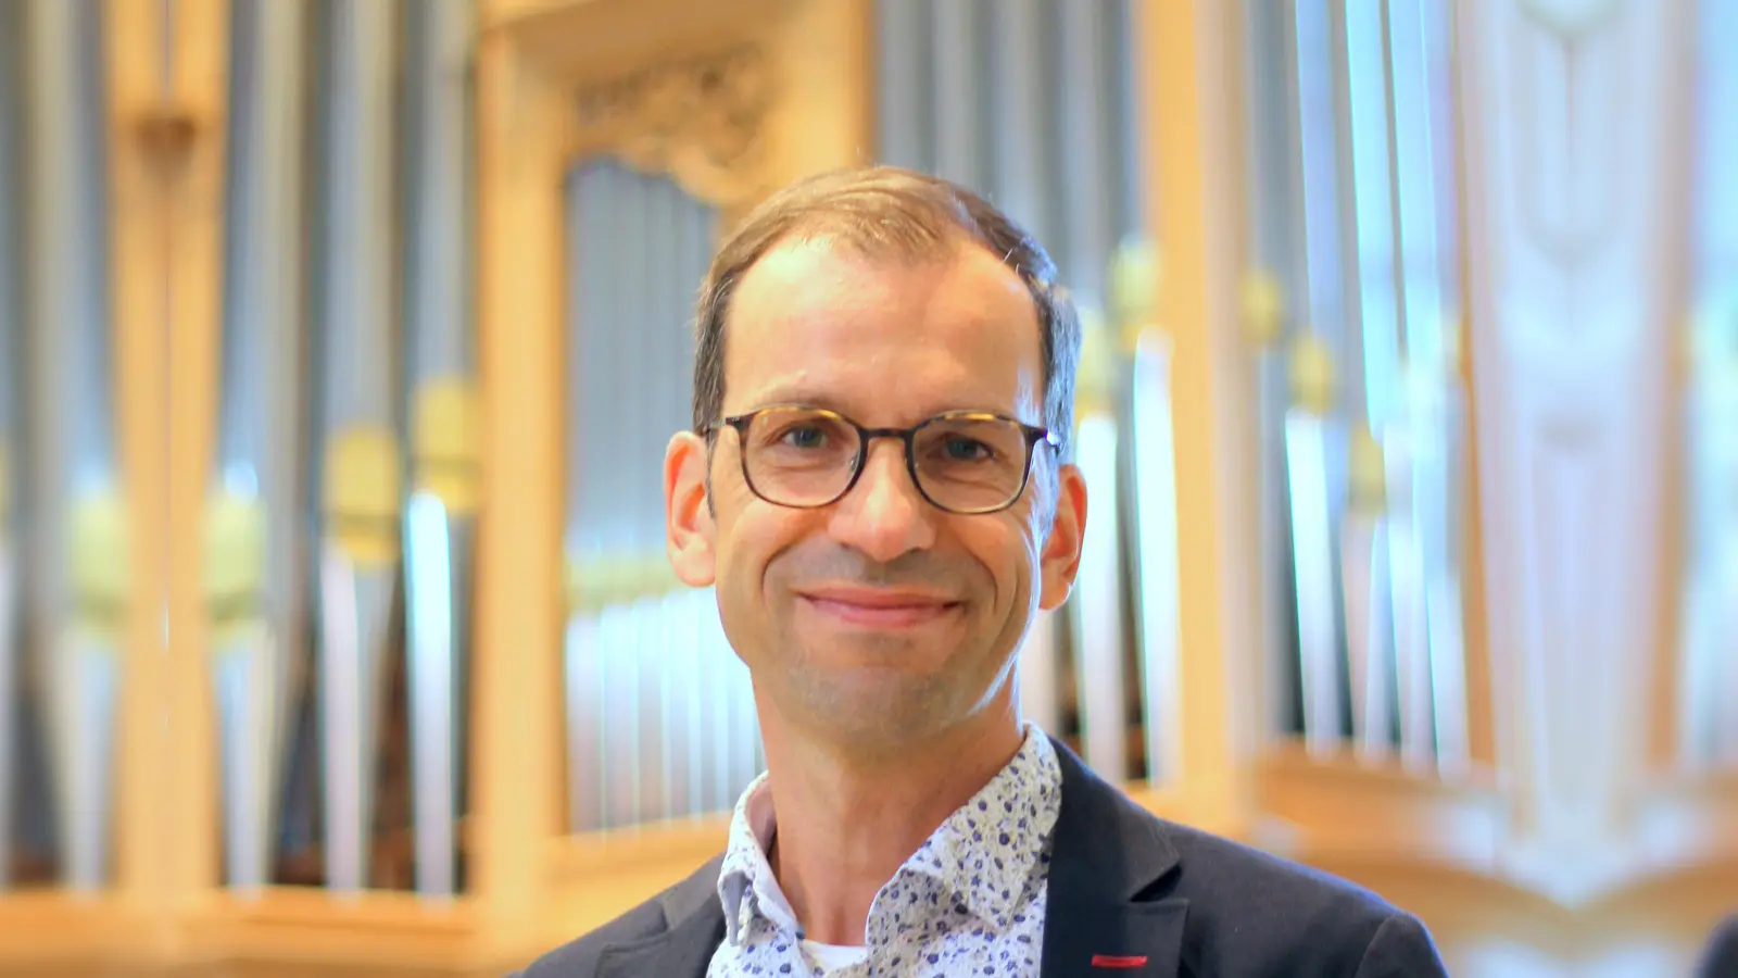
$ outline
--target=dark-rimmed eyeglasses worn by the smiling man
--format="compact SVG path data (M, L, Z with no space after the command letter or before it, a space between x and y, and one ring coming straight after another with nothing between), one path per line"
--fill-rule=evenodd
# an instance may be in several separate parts
M914 428L864 428L820 407L779 405L725 418L735 428L742 479L777 506L817 508L845 498L869 459L869 442L905 442L905 468L930 505L959 515L1006 510L1025 492L1034 445L1058 439L982 411L937 414Z

